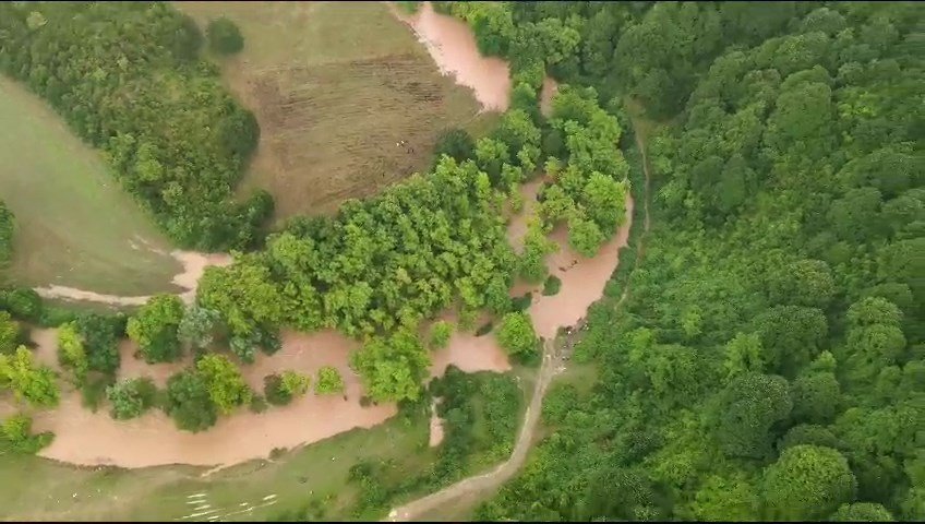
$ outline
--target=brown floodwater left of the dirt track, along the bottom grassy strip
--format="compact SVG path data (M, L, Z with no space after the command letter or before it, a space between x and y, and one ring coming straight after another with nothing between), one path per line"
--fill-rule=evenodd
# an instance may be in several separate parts
M58 369L56 334L56 330L35 330L33 341L38 345L38 360ZM442 373L451 362L467 371L509 369L492 337L481 337L485 342L480 341L474 347L467 344L469 338L457 335L449 347L433 354L434 371ZM373 427L397 409L394 404L360 405L362 385L348 365L350 352L358 347L359 343L335 332L284 333L283 349L272 356L259 355L253 365L241 367L248 383L262 391L267 374L293 369L315 378L322 366L334 366L344 376L346 398L309 393L288 406L272 406L263 414L242 407L200 433L179 431L167 415L156 409L133 420L115 420L107 407L92 413L82 407L79 391L68 391L58 408L35 414L37 431L55 432L51 445L40 455L81 465L227 466L266 457L275 448L296 448L353 428ZM147 365L134 358L135 346L128 341L120 350L120 378L152 377L159 386L189 364ZM9 412L10 406L3 410Z

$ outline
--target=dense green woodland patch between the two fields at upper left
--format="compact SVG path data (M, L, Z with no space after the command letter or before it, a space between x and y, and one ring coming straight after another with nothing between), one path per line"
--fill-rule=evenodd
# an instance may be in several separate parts
M165 2L3 2L0 72L87 143L182 247L260 240L264 191L232 201L257 144L254 116L199 58L196 24Z

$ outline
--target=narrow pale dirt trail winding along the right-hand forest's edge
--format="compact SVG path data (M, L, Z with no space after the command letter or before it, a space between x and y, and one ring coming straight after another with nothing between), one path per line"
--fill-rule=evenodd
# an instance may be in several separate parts
M635 126L634 126L635 127ZM638 128L636 128L638 129ZM642 222L642 234L636 242L636 265L642 258L642 248L646 234L649 233L649 158L646 155L645 139L636 132L636 144L642 157L642 172L646 177L646 187L642 199L645 206L645 218ZM634 265L635 267L635 265ZM626 300L629 294L629 284L623 289L616 306L620 308ZM447 486L440 491L428 495L420 499L408 502L405 505L395 508L388 513L388 516L382 522L409 522L420 519L421 515L433 511L434 509L447 504L448 502L461 498L467 495L483 492L491 489L497 489L506 483L510 477L520 469L520 466L527 461L527 453L530 451L530 444L537 431L537 424L540 420L540 413L543 406L543 397L552 382L552 379L560 372L565 370L562 349L572 348L575 345L575 338L585 327L586 320L582 318L575 327L563 337L562 344L556 344L556 340L548 340L543 342L543 361L540 366L540 372L537 376L537 383L533 386L533 394L530 398L530 404L524 413L524 422L520 426L520 432L517 436L517 442L514 445L514 451L507 461L497 465L494 469L465 478L452 486Z

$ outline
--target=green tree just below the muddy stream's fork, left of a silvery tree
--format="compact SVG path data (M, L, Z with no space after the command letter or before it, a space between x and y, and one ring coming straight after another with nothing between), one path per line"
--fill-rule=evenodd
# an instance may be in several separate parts
M171 362L183 354L178 336L182 320L180 297L157 295L129 319L125 333L139 345L148 364Z

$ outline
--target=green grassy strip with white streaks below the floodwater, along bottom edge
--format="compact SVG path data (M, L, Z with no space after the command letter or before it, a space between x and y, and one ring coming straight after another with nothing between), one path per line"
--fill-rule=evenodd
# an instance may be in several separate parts
M361 458L393 458L409 469L422 467L433 457L427 431L427 421L406 427L393 418L370 430L353 430L273 461L252 461L207 477L202 477L207 468L75 468L36 457L3 456L0 517L171 521L207 511L193 508L208 504L208 510L217 510L208 515L224 521L265 521L313 499L326 499L327 519L348 519L347 508L356 496L347 484L350 466ZM190 497L197 493L203 496Z

